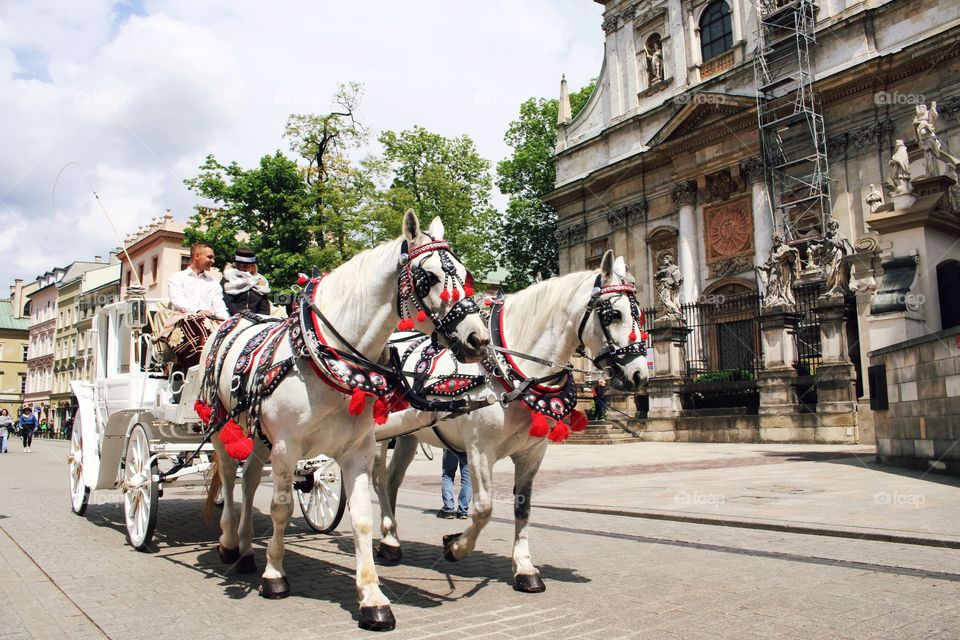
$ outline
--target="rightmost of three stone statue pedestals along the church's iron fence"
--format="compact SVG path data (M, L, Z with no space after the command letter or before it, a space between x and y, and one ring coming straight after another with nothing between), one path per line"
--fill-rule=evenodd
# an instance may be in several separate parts
M856 370L847 354L846 305L840 297L817 301L822 359L817 383L816 442L858 440Z

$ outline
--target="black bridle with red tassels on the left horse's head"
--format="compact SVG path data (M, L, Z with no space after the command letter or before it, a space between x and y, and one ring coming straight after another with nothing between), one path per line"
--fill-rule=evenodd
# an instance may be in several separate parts
M430 273L423 268L423 263L429 254L436 253L440 257L440 268L443 270L443 290L440 299L444 302L453 300L454 304L444 315L439 315L431 309L425 298L430 295L433 286L430 283ZM418 259L419 258L419 259ZM446 347L458 359L463 357L463 342L457 336L457 327L467 316L480 312L473 299L473 276L467 272L465 281L460 279L457 267L450 252L450 245L444 240L434 240L414 249L407 248L407 241L403 241L400 248L400 286L397 291L397 313L400 322L397 329L409 331L413 329L413 309L417 310L417 321L425 322L427 318L433 323L434 331L431 334L433 344L438 344L438 335L443 337ZM450 285L450 286L448 286ZM459 288L458 288L459 285ZM460 295L460 289L464 295Z

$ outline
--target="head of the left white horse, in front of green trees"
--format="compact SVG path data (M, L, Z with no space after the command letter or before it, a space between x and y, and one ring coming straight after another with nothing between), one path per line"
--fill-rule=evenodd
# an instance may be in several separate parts
M426 326L435 342L461 362L477 362L486 354L490 335L473 299L473 276L443 239L439 217L424 232L413 210L403 218L402 273L398 295L399 329Z

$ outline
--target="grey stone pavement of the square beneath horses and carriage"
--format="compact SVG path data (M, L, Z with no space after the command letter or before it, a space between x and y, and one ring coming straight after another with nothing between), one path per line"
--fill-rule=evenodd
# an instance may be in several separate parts
M265 601L258 576L219 564L199 489L167 489L155 548L138 553L124 539L118 493L96 492L84 517L70 513L65 456L58 442L0 454L0 640L370 636L356 629L346 519L327 536L293 519L293 594ZM399 500L404 563L379 571L398 620L389 637L960 636L960 551L940 543L960 537L957 483L876 468L868 449L553 446L534 495L539 595L511 589L511 475L499 463L494 520L472 556L449 563L440 538L463 523L433 517L439 461L418 456ZM261 566L268 503L264 487ZM599 512L537 508L546 503ZM751 528L751 519L810 531ZM841 527L911 539L832 535Z

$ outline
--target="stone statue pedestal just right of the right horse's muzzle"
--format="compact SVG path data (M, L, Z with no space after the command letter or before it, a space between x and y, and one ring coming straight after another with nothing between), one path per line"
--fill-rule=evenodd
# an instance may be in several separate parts
M650 410L645 440L674 441L680 417L680 387L683 384L682 347L690 330L683 321L658 318L650 332L653 338L654 374L647 382Z

